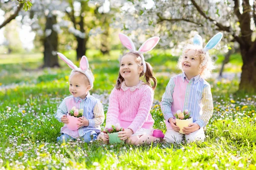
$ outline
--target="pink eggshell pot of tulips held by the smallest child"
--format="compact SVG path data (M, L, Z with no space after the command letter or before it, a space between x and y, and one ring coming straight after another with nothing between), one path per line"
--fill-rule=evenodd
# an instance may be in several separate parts
M74 106L69 114L67 114L67 119L69 119L69 123L67 124L67 128L69 128L70 130L78 130L78 123L81 123L78 118L82 117L84 113L84 109L76 109L76 107Z

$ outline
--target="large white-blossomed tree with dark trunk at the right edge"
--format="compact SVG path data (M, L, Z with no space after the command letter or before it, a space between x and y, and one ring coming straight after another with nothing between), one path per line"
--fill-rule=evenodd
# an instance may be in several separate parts
M146 8L148 2L154 5ZM157 31L162 46L182 44L196 33L209 40L223 32L227 45L239 43L243 60L239 91L256 93L255 0L131 0L122 18L125 30Z

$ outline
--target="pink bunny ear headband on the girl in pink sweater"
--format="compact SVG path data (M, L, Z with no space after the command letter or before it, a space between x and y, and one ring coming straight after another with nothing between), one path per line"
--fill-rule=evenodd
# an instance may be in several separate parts
M143 45L140 46L139 50L136 51L134 43L132 40L125 34L119 33L119 39L122 44L129 50L134 51L140 54L142 64L143 64L143 72L146 72L146 63L143 54L145 52L151 51L159 42L159 37L151 37L150 39L146 40Z

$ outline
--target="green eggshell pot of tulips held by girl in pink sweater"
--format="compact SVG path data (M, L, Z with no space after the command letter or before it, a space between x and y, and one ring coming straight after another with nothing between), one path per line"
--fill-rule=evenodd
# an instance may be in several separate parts
M121 140L118 137L118 132L123 130L119 123L116 123L116 125L111 125L110 127L105 127L105 130L108 133L110 144L117 144L117 143L124 144L125 141Z

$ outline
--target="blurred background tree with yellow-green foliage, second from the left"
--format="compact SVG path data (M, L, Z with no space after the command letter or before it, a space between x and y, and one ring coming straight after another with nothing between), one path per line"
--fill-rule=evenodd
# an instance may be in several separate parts
M76 55L79 60L87 51L87 42L92 35L102 34L104 40L101 42L102 53L108 53L108 29L110 15L108 11L100 11L102 4L97 4L91 0L69 0L69 8L66 14L73 26L69 28L70 33L76 37ZM102 30L104 29L104 31Z

